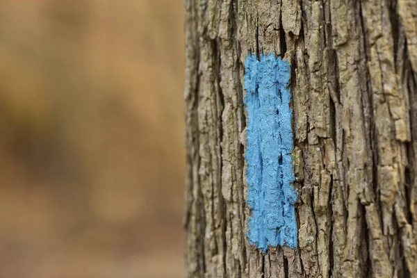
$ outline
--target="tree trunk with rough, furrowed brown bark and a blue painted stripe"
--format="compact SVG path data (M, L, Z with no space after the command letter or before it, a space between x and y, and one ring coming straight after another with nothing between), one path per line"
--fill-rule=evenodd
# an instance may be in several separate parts
M417 277L416 72L415 0L186 1L188 276Z

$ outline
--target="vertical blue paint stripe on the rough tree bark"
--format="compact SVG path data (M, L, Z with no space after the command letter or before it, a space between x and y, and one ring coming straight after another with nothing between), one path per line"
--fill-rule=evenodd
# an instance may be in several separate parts
M247 183L249 240L267 251L268 245L297 248L297 221L291 152L291 66L274 54L248 55L245 62L247 121Z

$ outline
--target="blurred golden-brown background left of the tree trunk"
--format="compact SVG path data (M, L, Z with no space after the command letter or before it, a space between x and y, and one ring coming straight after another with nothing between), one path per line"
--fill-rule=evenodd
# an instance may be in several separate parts
M185 277L183 0L0 0L0 277Z

